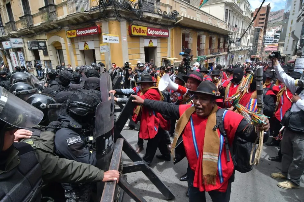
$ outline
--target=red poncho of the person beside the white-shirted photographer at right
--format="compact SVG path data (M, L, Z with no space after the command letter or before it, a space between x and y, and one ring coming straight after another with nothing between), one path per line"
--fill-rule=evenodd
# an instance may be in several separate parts
M285 113L289 108L291 108L291 104L292 104L292 102L289 100L292 98L292 93L288 88L286 88L286 90L287 90L287 95L286 95L286 91L284 90L281 97L279 97L277 100L278 109L275 112L275 118L277 118L279 121L282 121ZM287 96L289 97L289 99L287 98Z

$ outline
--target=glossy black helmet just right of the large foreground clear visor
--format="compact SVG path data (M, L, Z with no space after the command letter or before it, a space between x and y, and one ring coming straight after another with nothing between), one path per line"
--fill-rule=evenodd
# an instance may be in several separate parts
M51 121L57 121L61 104L57 104L55 97L39 93L30 96L26 102L43 112L43 119L40 125L48 126Z

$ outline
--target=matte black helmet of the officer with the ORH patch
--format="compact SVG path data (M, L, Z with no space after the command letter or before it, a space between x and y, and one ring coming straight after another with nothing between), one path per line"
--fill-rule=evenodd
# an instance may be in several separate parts
M67 100L67 111L78 117L93 117L97 105L101 103L101 94L97 90L75 91Z

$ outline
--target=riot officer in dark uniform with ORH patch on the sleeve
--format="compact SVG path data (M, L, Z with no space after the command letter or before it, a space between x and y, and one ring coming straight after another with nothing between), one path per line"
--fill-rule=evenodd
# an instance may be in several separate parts
M59 130L55 134L56 153L66 159L96 165L96 152L92 147L95 128L95 110L101 102L97 90L75 91L60 111ZM90 184L63 184L67 201L89 201Z

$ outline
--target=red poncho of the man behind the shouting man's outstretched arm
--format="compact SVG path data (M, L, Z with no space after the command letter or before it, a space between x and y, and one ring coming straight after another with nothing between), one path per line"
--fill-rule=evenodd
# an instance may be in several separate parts
M137 90L136 87L133 88L133 90L136 92ZM161 98L161 95L159 94L159 91L157 89L150 89L147 90L145 94L143 95L140 94L141 94L141 90L138 90L137 95L143 99L159 101ZM134 108L134 110L135 109L136 107ZM154 138L158 132L158 127L161 127L164 130L169 130L168 121L165 120L159 112L154 112L153 110L150 110L143 106L141 108L141 111L142 112L139 112L138 116L136 116L135 113L133 113L132 116L132 119L135 123L140 121L139 138L142 139Z

